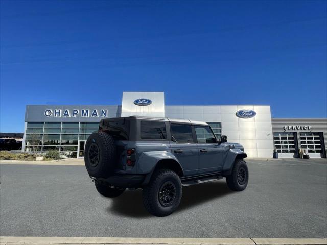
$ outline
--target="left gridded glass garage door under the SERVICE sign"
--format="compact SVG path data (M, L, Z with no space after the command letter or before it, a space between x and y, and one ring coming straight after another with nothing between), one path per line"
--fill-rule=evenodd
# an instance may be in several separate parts
M274 132L274 145L278 153L295 153L293 132Z

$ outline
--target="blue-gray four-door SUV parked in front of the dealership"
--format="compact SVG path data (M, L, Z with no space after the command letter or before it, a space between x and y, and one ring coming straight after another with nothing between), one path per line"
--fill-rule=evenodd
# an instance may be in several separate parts
M174 212L182 186L226 177L235 191L249 174L243 146L217 139L206 122L130 116L100 121L85 145L85 166L105 197L143 189L143 204L155 216Z

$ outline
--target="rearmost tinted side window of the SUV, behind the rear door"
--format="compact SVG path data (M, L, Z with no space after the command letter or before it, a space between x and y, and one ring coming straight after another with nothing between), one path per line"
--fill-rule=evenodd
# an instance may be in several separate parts
M141 121L141 139L166 139L166 124L163 121Z

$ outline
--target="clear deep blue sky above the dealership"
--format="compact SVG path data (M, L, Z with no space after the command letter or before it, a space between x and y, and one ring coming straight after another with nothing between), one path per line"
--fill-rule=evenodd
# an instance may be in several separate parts
M327 115L327 1L7 1L0 8L0 131L27 104L271 105Z

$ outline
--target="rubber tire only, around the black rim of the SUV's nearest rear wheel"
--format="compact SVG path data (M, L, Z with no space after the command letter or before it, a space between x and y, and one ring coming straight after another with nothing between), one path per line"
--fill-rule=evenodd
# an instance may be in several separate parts
M159 191L161 188L173 183L175 187L174 201L164 206L159 200ZM179 176L170 169L159 169L153 173L150 183L143 189L143 205L145 209L154 216L163 217L173 213L180 204L182 197L182 185Z

